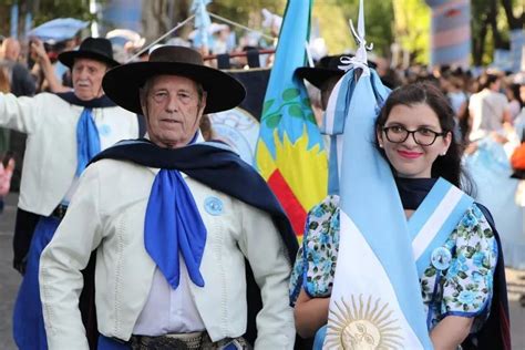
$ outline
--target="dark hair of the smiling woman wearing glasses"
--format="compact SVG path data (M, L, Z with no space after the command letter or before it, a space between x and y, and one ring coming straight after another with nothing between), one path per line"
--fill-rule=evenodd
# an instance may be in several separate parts
M434 111L440 120L440 125L443 132L452 134L451 145L444 156L439 156L434 164L432 164L432 177L443 177L463 191L473 192L473 185L461 166L461 157L463 147L456 142L454 133L456 132L454 111L449 103L449 100L443 95L437 86L429 82L420 82L401 86L389 95L384 102L383 107L375 121L375 131L382 131L387 123L390 112L397 105L412 106L415 104L426 104ZM387 158L384 151L379 147L378 141L375 146L383 157ZM392 169L394 172L394 169Z

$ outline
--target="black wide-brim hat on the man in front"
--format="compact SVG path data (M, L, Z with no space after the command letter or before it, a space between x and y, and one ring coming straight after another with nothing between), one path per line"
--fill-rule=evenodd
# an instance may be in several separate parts
M102 81L104 93L121 107L143 114L140 90L156 75L185 76L206 91L204 113L236 107L246 96L246 90L231 75L204 65L197 51L184 47L161 47L150 54L147 62L128 63L110 70Z

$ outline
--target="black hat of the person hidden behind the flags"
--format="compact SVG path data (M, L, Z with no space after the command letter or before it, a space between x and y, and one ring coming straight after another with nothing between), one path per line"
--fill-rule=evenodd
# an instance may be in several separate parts
M344 75L344 71L338 68L338 65L342 65L341 58L343 56L353 56L353 54L323 56L316 66L298 68L296 74L320 90L329 79ZM368 65L373 69L375 68L375 63L372 61L368 61Z

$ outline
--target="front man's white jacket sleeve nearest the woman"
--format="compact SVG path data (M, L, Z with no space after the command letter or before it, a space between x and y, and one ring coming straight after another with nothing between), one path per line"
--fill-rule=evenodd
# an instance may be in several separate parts
M285 243L268 214L246 204L241 208L239 248L250 264L262 298L255 349L294 349L294 309L288 302L291 264Z

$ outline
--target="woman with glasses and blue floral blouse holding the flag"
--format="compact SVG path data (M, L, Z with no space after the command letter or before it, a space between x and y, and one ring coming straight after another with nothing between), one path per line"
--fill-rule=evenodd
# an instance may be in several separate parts
M461 150L453 137L453 117L437 87L418 83L393 91L375 121L378 156L390 164L409 225L411 218L421 220L429 208L428 198L435 200L437 187L465 186ZM508 328L502 330L498 326L507 326L508 312L501 313L507 311L507 303L497 234L490 213L463 195L465 202L457 220L433 250L441 255L433 253L422 265L420 286L428 330L435 349L456 349L469 336L482 337L487 329L494 334L490 341L480 338L485 342L478 344L505 349ZM315 349L322 347L328 320L339 251L339 200L338 195L329 196L308 214L290 280L297 330L303 337L318 333ZM370 210L373 219L373 209Z

